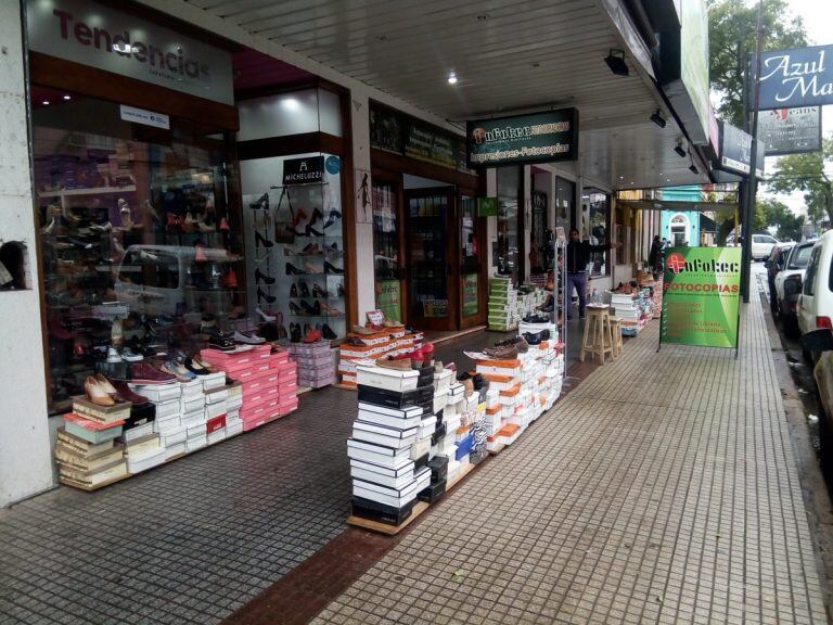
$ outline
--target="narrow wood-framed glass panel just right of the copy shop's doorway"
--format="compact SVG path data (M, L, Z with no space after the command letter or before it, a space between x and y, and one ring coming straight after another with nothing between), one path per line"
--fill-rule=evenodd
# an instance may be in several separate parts
M477 221L477 202L460 195L460 328L483 322L482 250Z

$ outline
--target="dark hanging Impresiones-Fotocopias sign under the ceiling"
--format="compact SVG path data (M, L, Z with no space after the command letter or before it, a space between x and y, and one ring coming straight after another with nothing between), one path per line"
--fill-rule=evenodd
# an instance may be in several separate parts
M470 167L573 161L578 155L578 111L469 122L466 148Z

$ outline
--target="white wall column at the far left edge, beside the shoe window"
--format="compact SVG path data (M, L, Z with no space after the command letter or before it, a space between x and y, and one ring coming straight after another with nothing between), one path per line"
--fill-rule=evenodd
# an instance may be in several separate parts
M25 247L27 289L0 292L0 508L52 487L31 199L23 15L0 2L0 239Z

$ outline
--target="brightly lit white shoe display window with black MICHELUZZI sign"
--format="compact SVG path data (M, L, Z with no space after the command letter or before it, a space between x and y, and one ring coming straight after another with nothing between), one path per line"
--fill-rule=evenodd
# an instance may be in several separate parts
M320 168L311 182L284 183L298 162ZM275 317L279 337L299 342L310 331L346 336L345 248L341 161L325 153L242 161L248 310ZM294 171L294 169L292 169ZM317 169L318 170L318 169Z

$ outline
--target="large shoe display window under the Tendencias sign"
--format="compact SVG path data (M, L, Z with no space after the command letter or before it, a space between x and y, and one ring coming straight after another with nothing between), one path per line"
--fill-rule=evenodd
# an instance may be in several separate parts
M110 347L190 348L203 323L245 318L243 244L221 128L133 124L116 103L33 90L49 400L60 411Z

